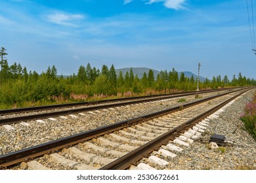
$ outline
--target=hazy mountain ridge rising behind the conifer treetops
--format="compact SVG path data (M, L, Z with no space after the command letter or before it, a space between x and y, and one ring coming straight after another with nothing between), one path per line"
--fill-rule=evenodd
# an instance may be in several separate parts
M142 78L143 74L146 73L146 75L148 75L148 71L150 71L149 68L146 67L127 67L127 68L122 68L122 69L116 69L116 75L117 77L119 76L119 72L122 71L123 73L123 77L125 76L125 73L128 71L128 73L130 72L130 69L133 69L133 75L138 75L138 78ZM158 74L160 73L160 71L154 70L152 69L155 78L158 76ZM169 72L169 71L168 71ZM195 75L194 73L191 73L190 71L184 71L183 72L185 77L187 78L191 78L191 76L194 76L194 79L196 80L197 75ZM181 72L178 72L178 75L181 76ZM203 76L199 76L200 81L204 81L205 78Z

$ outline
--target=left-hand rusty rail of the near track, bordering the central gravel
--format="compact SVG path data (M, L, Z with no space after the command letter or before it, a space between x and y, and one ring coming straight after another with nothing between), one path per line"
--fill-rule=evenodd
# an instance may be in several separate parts
M238 92L238 91L231 91L228 93L222 93L220 95L215 95L212 97L207 97L205 99L200 99L198 101L194 101L192 103L187 103L185 105L182 105L182 108L187 108L192 105L197 105L197 104L203 103L205 101L209 101L211 99L215 99L217 97L221 97L223 95L227 95L227 94L233 93L233 92ZM145 120L150 120L150 119L156 118L158 116L163 116L165 114L168 114L169 112L175 112L177 110L180 110L180 108L181 108L180 106L172 107L172 108L169 108L166 110L161 110L160 112L154 112L152 114L147 114L147 115L133 118L130 120L117 122L116 124L106 125L104 127L100 127L100 128L93 129L90 131L85 131L83 133L79 133L77 135L72 135L70 137L65 137L62 139L55 140L55 141L39 144L37 146L26 148L24 150L18 150L16 152L4 154L4 155L0 156L0 168L14 165L14 164L20 163L22 161L27 161L28 159L32 159L32 158L41 156L43 154L54 152L56 150L60 150L61 148L68 147L73 144L77 144L79 142L93 139L100 135L104 135L106 133L111 133L113 131L123 129L124 127L127 127L129 125L135 125L135 124L144 122Z

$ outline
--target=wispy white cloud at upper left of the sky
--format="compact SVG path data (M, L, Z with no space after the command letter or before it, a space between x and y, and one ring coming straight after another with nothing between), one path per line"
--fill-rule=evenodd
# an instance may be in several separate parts
M82 20L85 16L83 14L68 14L66 12L54 12L46 16L48 22L59 25L68 25L76 27L76 21Z

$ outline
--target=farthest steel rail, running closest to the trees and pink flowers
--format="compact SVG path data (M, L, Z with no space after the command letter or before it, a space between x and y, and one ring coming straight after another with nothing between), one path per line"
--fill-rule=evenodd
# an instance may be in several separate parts
M123 97L119 99L105 99L105 100L99 100L99 101L86 101L86 102L79 102L79 103L66 103L66 104L59 104L59 105L45 105L45 106L38 106L38 107L23 107L23 108L11 108L11 109L5 109L0 110L0 115L3 114L14 114L19 112L31 112L31 111L39 111L39 110L49 110L53 108L64 108L64 107L76 107L76 106L82 106L82 105L96 105L100 103L110 103L115 101L127 101L131 99L144 99L148 97L164 97L167 95L181 95L185 96L193 95L195 93L210 93L210 92L218 92L223 90L234 90L237 88L221 88L221 89L214 89L214 90L201 90L199 92L180 92L180 93L165 93L165 94L158 94L158 95L145 95L145 96L139 96L139 97ZM171 97L171 96L169 96Z

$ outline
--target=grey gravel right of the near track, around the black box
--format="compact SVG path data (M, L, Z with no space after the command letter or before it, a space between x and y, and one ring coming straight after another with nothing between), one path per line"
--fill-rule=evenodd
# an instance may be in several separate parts
M254 92L247 92L245 97L252 99ZM249 103L245 97L237 99L219 114L219 118L211 120L201 141L195 141L177 157L169 159L168 169L255 170L256 141L244 131L240 120L240 114ZM209 139L213 133L225 135L229 142L217 149L209 148Z

